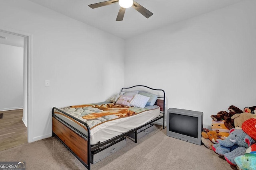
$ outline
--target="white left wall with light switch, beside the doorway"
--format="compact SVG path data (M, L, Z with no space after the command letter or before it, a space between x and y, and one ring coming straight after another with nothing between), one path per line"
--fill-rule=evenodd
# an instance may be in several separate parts
M27 0L0 3L1 26L33 35L32 141L51 136L53 106L104 101L124 86L123 39Z

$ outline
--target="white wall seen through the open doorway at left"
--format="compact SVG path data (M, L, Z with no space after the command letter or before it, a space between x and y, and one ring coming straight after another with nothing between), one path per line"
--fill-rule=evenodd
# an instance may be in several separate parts
M23 107L23 48L0 44L0 111Z

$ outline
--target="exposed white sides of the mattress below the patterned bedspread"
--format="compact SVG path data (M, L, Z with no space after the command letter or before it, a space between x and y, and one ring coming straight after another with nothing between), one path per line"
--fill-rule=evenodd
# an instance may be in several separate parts
M104 142L108 139L121 135L122 133L125 133L131 129L144 125L148 121L153 120L154 118L160 115L160 108L158 106L154 105L148 106L146 108L149 108L150 110L144 111L133 116L124 117L122 119L107 121L92 128L90 130L90 144L95 145L98 143L98 141ZM55 115L57 117L60 117L63 121L67 122L68 124L72 125L80 132L87 135L87 131L71 119L68 119L67 117L60 114Z

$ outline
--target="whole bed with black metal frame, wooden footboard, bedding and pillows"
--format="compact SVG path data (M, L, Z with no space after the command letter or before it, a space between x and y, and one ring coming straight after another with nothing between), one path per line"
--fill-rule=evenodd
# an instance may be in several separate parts
M143 85L122 88L105 102L53 107L52 136L90 170L92 153L100 154L131 133L137 143L137 131L160 119L164 129L164 111L164 90Z

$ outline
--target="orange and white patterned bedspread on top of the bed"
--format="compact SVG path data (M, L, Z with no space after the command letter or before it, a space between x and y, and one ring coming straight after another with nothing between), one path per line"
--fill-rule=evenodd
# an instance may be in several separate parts
M96 104L85 104L60 108L60 110L86 122L90 129L114 119L142 113L148 108L121 106L113 103L102 102ZM57 110L54 113L60 113Z

